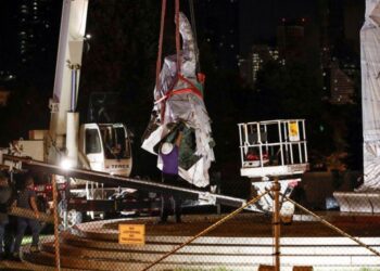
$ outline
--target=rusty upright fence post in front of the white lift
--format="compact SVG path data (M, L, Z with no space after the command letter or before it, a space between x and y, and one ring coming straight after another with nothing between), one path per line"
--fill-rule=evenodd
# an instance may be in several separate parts
M278 177L275 178L271 190L274 191L274 235L275 235L275 270L280 270L280 189L281 184L278 182Z

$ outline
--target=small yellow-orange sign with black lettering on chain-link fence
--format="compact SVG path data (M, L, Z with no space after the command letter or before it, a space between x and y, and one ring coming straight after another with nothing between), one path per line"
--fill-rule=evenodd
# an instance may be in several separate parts
M118 244L144 245L145 244L145 225L144 224L118 224Z

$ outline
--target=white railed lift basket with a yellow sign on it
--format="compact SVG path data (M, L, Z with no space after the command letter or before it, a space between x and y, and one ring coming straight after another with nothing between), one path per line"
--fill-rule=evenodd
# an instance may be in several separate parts
M238 124L241 176L291 176L308 169L305 119Z

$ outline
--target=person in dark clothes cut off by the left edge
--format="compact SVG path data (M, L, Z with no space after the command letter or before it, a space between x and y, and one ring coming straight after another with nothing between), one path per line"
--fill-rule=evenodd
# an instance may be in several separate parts
M8 178L0 172L0 260L4 258L4 231L9 222L8 206L12 196L12 189L8 184Z

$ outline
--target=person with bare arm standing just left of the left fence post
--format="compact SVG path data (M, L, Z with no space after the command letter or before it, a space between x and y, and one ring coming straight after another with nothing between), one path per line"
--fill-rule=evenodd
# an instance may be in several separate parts
M20 192L17 196L17 207L33 210L35 212L36 219L39 218L39 211L36 204L36 192L34 190L35 183L31 177L28 177L25 182L25 189ZM15 257L20 256L20 247L23 242L24 233L27 227L31 230L31 246L30 253L39 251L38 242L39 242L39 232L41 225L38 220L17 217L17 231L14 243L14 253Z

